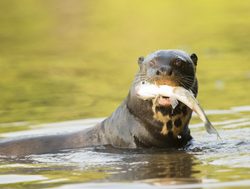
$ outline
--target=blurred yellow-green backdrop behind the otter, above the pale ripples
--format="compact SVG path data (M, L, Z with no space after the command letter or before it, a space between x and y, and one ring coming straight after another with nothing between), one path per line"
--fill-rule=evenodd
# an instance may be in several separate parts
M171 48L198 55L205 109L250 104L250 1L1 0L0 122L108 116Z

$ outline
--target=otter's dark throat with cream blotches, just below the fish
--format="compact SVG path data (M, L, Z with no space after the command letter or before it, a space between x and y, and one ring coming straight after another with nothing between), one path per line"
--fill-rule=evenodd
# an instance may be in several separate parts
M157 98L141 100L136 97L133 88L127 97L127 108L156 137L178 138L184 135L192 114L192 111L180 102L173 109L171 106L160 106Z

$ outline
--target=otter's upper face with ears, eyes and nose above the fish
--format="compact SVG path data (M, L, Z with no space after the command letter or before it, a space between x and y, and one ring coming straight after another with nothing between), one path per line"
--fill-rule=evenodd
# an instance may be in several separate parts
M179 50L161 50L140 57L140 74L142 80L158 85L182 86L191 89L195 82L197 56ZM144 75L143 75L143 74Z

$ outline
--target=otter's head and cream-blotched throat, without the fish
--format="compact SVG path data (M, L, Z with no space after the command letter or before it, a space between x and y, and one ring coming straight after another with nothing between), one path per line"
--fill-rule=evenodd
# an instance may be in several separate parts
M180 50L159 50L146 58L139 57L140 67L128 97L128 108L145 122L152 132L162 136L181 137L188 130L187 124L192 111L182 104L174 109L167 97L141 100L136 97L138 84L149 82L156 85L181 86L197 95L198 86L195 76L198 58Z

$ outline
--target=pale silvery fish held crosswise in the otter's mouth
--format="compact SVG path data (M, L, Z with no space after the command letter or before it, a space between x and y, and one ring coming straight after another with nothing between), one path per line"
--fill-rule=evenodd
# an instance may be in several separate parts
M209 134L215 134L217 135L217 138L220 138L219 133L209 121L205 111L191 91L180 86L155 85L148 82L143 82L137 85L135 91L137 97L142 100L153 99L158 96L169 97L173 109L177 105L177 100L184 103L204 122L205 129Z

